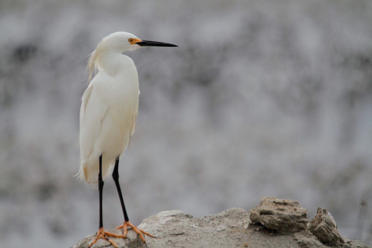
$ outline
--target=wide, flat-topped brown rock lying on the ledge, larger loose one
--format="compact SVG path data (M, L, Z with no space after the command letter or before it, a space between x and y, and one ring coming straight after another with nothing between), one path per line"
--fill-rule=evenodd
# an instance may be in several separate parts
M260 206L249 211L252 223L261 223L278 233L295 233L307 228L307 210L299 202L262 197Z

